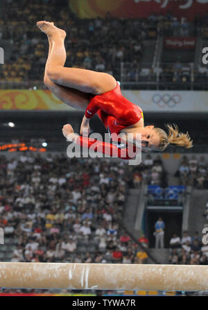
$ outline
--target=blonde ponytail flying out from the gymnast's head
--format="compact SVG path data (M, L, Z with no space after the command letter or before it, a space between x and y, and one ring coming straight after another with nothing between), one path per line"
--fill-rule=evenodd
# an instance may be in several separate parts
M173 128L174 126L174 128ZM168 135L161 128L154 128L159 135L159 150L164 150L168 144L176 144L177 146L183 146L184 148L192 148L192 140L189 137L189 133L179 133L176 124L166 124L168 128Z

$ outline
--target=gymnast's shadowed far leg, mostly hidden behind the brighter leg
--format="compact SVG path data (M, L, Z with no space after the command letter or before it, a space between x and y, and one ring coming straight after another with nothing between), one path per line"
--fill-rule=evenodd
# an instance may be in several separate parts
M51 90L51 92L53 92L53 94L55 94L55 96L57 96L61 101L63 101L67 105L75 107L78 110L86 110L87 105L89 103L89 94L80 92L77 89L71 89L53 83L53 81L50 80L49 76L47 75L47 69L49 67L51 48L52 48L52 42L50 37L48 37L48 39L49 39L49 55L46 61L46 67L44 72L44 84L47 87L49 87L49 89Z

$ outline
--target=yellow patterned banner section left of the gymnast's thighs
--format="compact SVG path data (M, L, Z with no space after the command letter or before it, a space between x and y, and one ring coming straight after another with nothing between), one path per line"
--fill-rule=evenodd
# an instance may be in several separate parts
M50 90L0 89L0 110L74 110Z

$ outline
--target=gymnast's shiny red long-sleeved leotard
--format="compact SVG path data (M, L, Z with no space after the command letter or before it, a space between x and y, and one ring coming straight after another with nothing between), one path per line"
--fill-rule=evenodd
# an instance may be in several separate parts
M92 97L87 109L85 110L85 117L90 119L94 114L98 115L110 134L116 133L117 135L119 135L119 132L123 128L137 123L141 118L144 119L141 108L123 97L119 83L117 83L116 87L109 92ZM112 155L112 151L116 148L119 157L125 160L132 158L127 154L127 147L118 148L119 146L116 146L115 144L108 144L103 141L81 136L77 139L76 143L89 148L95 141L96 150L98 152ZM105 146L107 146L107 148ZM133 146L132 148L133 152L135 152L136 147Z

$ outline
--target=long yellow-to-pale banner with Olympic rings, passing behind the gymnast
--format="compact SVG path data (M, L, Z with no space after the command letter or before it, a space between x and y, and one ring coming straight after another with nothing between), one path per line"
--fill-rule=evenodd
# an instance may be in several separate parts
M123 90L144 112L208 112L207 91ZM76 111L49 89L0 89L1 110Z

